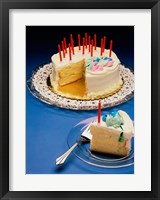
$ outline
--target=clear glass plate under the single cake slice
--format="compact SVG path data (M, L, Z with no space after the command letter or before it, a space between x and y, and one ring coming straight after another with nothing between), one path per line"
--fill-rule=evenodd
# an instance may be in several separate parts
M85 127L97 117L88 118L74 126L67 138L68 147L70 148L81 136ZM125 157L119 157L109 154L93 153L90 151L90 143L80 143L73 153L80 160L101 168L122 168L134 164L134 138L132 138L131 151Z

